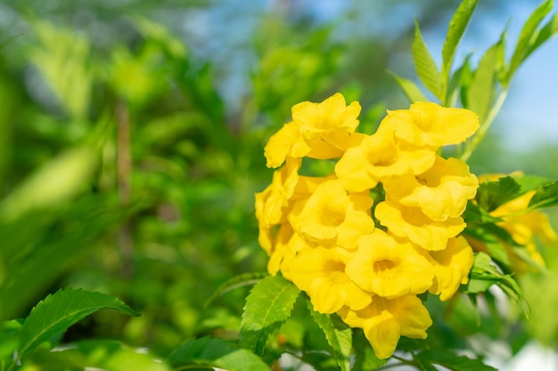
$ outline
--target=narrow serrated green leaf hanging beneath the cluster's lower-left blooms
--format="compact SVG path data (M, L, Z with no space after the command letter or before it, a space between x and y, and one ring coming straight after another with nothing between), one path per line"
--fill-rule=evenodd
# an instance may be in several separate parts
M352 331L350 327L344 324L339 318L314 311L310 302L308 302L308 310L312 314L316 324L324 331L327 343L332 347L333 356L337 360L341 370L349 371L349 356L352 347Z

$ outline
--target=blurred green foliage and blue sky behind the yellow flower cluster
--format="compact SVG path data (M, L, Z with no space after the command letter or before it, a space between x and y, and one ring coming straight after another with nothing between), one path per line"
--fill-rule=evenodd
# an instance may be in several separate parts
M361 101L371 127L386 108L406 107L386 70L414 76L413 16L441 49L436 35L458 4L363 3L0 4L0 319L26 317L73 286L117 296L142 316L98 311L70 327L67 342L119 338L168 354L193 336L234 337L248 286L212 295L266 269L253 193L271 178L269 135L293 104L337 91ZM465 52L495 42L511 16L513 36L513 10L525 3L537 6L481 2ZM506 112L529 111L524 97L536 93L521 89L521 75L511 91L472 171L557 179L553 141L510 143L527 141L534 123ZM539 110L529 117L558 126ZM558 255L555 246L543 253L549 274L521 278L529 321L515 308L503 323L455 311L451 326L478 351L506 359L531 339L558 343ZM515 343L503 343L510 336Z

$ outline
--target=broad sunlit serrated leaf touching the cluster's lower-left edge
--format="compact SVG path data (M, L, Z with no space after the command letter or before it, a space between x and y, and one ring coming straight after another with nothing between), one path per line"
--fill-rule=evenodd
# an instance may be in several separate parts
M267 337L291 316L300 290L280 276L269 276L252 287L240 330L240 345L262 355Z

